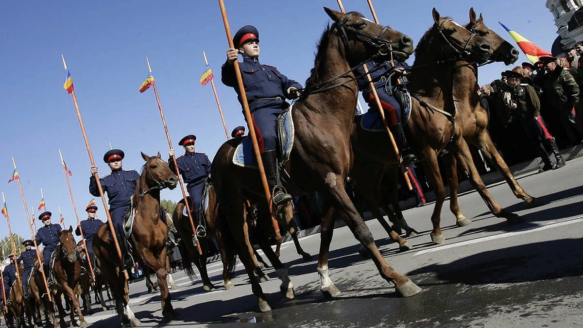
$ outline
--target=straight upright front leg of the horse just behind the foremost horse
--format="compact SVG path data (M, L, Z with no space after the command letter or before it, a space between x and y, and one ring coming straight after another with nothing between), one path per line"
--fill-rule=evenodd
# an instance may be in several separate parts
M428 146L427 148L424 148L422 152L419 152L419 154L421 155L425 173L427 174L436 194L436 204L433 207L433 214L431 214L431 224L433 224L433 230L430 233L431 241L440 244L445 242L440 227L441 207L445 201L445 187L443 185L443 180L441 179L441 172L437 163L437 155L435 151Z

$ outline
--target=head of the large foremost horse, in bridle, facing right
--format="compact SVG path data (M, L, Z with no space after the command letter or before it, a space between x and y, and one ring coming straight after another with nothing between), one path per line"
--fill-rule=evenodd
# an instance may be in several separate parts
M387 57L391 52L398 60L406 60L413 54L413 40L405 34L364 18L361 13L341 13L329 8L324 10L334 21L352 64L363 62L375 54Z

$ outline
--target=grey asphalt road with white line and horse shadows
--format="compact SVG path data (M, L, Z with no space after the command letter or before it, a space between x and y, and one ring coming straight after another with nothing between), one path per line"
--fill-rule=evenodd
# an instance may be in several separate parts
M570 327L583 322L583 158L560 170L521 177L519 183L546 203L525 210L506 184L490 193L503 207L526 222L509 226L493 217L477 193L459 197L463 214L473 224L456 227L446 201L442 211L445 243L430 242L433 204L408 210L405 218L422 232L410 238L413 249L399 253L395 243L376 221L368 221L377 245L396 271L407 275L423 292L399 298L382 280L374 264L357 253L357 242L347 229L334 232L330 276L342 294L325 298L319 291L316 256L319 235L300 239L314 255L297 256L293 243L282 246L296 298L279 292L272 278L262 288L272 305L268 313L256 312L247 276L238 265L235 288L225 291L222 266L209 266L217 290L205 292L184 273L174 274L178 288L170 289L180 314L164 320L160 296L146 294L143 282L130 285L131 306L142 326L185 327ZM118 326L113 310L86 316L93 327Z

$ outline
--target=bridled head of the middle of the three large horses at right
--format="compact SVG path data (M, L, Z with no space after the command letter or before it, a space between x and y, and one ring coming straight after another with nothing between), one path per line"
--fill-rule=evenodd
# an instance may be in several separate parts
M442 17L435 8L433 21L433 26L417 44L416 62L417 60L484 62L490 58L492 46L483 37L470 32L449 17Z

